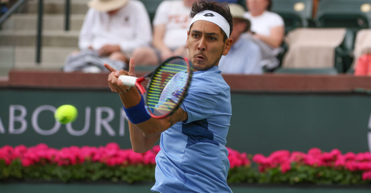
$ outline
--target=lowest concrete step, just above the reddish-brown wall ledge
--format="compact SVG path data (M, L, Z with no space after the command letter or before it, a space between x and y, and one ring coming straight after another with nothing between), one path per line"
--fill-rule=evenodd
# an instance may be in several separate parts
M66 56L74 50L77 50L77 47L42 47L41 66L60 69L65 63ZM7 64L15 68L39 67L40 65L35 64L35 58L36 47L33 46L0 47L0 66Z

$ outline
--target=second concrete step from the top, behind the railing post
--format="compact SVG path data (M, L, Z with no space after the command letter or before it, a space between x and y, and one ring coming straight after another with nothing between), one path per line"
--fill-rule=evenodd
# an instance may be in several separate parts
M85 14L70 15L70 30L80 30ZM43 30L64 30L63 14L45 14ZM37 14L13 14L2 26L3 30L36 30Z

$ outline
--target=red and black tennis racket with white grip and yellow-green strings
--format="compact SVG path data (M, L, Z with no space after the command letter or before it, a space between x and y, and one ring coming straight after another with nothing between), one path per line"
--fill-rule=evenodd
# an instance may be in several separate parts
M137 86L151 117L160 119L178 109L187 94L192 73L193 66L187 58L173 56L142 77L121 75L118 79L124 85ZM145 80L148 80L146 87L141 84Z

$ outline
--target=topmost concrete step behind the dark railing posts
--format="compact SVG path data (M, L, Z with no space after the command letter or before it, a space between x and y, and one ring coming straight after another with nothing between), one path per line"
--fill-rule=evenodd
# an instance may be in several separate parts
M89 0L71 0L71 14L85 14L88 11ZM37 13L39 9L38 0L29 0L26 3L26 13ZM62 14L65 13L65 0L44 0L43 13Z

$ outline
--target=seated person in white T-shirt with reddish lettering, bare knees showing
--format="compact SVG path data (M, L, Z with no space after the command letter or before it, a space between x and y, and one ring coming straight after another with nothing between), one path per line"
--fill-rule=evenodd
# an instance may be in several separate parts
M185 47L191 19L189 13L195 0L165 0L158 6L153 20L153 47L133 53L136 64L157 65L180 55L188 57Z

